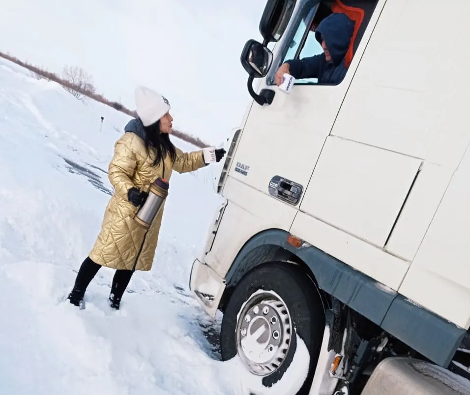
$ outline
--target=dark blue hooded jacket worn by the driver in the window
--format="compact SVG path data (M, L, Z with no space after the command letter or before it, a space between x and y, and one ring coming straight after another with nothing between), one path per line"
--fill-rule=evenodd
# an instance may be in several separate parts
M346 75L345 55L348 52L354 31L354 22L343 13L333 13L320 22L315 38L321 44L325 40L331 56L327 62L325 54L309 58L286 61L290 74L296 78L318 78L319 84L339 84Z

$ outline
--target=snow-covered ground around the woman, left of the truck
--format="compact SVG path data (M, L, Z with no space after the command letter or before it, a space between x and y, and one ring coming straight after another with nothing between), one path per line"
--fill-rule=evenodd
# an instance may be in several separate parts
M155 264L132 278L121 309L106 303L114 272L102 268L79 310L64 297L99 232L129 118L3 60L0 87L0 394L249 394L258 382L219 361L217 324L188 286L220 201L218 168L174 174Z

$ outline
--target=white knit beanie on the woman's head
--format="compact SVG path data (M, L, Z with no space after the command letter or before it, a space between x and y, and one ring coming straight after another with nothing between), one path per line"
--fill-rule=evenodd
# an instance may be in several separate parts
M135 91L136 111L144 126L150 126L162 118L171 106L161 94L139 86Z

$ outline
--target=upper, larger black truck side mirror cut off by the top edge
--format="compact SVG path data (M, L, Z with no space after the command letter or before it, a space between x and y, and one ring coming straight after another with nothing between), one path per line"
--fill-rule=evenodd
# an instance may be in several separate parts
M277 42L291 20L296 0L267 0L260 21L265 43Z

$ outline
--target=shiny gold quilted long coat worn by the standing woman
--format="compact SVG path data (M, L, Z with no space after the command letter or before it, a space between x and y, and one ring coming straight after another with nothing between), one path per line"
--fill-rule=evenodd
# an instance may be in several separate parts
M113 269L148 271L152 268L164 211L162 207L146 235L146 230L137 226L133 218L138 207L127 200L131 187L147 192L156 178L163 178L161 162L151 166L154 155L147 154L139 134L126 132L115 144L109 164L109 180L115 192L106 206L101 232L89 254L97 264ZM173 163L169 155L164 160L166 181L170 180L173 170L186 173L206 166L202 151L176 149L176 155ZM171 199L171 182L167 199Z

